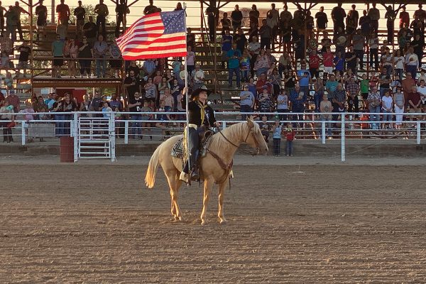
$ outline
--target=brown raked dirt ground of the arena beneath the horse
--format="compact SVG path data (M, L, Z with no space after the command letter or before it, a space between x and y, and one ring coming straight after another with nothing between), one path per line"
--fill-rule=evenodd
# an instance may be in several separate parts
M224 226L141 159L2 159L0 283L426 283L424 159L237 158Z

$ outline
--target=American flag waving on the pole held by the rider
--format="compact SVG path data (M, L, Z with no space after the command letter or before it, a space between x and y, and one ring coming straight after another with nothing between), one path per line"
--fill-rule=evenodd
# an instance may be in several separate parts
M124 60L186 56L185 10L143 16L116 42Z

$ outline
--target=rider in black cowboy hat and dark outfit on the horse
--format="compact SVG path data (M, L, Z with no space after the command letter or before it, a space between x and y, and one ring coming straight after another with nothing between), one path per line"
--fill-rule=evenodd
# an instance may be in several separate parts
M187 88L183 89L183 94L187 93ZM207 97L210 91L205 85L199 89L195 89L191 94L190 102L188 102L188 125L186 131L188 131L187 147L190 153L190 165L188 161L185 163L180 180L187 182L185 175L191 175L192 180L199 180L200 173L198 172L198 151L199 151L199 133L205 129L212 128L214 126L220 126L219 122L214 117L214 111L212 107L207 104ZM182 106L185 108L185 106ZM191 168L190 168L190 167Z

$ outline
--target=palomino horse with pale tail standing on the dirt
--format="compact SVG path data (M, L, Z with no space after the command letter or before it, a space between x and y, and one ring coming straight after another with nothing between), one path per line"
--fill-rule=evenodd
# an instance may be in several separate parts
M149 161L146 172L146 186L152 188L155 183L155 174L158 165L161 165L170 187L171 212L175 220L182 221L182 212L178 204L178 192L182 181L179 180L182 170L182 160L171 155L173 146L182 135L173 136L158 146ZM200 176L204 180L204 198L202 202L201 224L206 224L207 204L209 203L210 191L213 183L219 185L219 222L226 222L224 217L224 190L229 179L232 168L232 160L235 151L241 143L247 143L256 148L257 153L267 153L268 145L263 139L258 124L252 119L234 124L223 131L214 134L209 144L207 155L200 158Z

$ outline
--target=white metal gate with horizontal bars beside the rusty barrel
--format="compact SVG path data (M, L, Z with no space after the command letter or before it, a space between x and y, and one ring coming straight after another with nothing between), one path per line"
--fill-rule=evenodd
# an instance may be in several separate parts
M115 157L115 124L114 116L110 117L79 117L77 123L77 153L74 160L79 158L108 158Z

